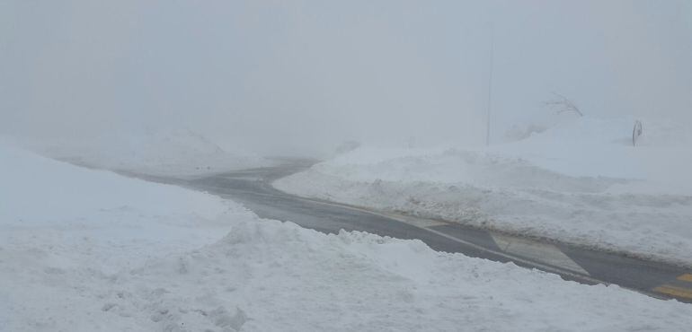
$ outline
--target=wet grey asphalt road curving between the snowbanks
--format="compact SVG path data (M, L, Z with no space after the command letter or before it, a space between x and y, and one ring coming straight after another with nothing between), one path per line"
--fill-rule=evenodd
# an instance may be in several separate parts
M582 284L617 284L661 299L692 303L692 271L679 266L593 249L546 243L439 220L371 211L281 192L271 183L311 162L283 160L278 166L238 170L200 179L139 178L206 191L244 204L262 218L290 221L319 232L340 230L418 239L431 249L513 262ZM132 176L133 174L129 174Z

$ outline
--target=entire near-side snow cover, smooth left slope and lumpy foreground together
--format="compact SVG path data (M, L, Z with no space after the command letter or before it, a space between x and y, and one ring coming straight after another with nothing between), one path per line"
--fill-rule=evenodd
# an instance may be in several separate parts
M0 331L685 330L692 306L0 145Z

